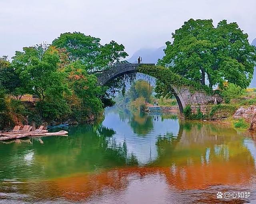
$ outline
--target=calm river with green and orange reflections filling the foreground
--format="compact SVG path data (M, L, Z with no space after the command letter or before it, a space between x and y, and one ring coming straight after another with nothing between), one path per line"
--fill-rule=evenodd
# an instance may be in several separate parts
M116 107L68 131L0 143L1 204L256 203L248 131Z

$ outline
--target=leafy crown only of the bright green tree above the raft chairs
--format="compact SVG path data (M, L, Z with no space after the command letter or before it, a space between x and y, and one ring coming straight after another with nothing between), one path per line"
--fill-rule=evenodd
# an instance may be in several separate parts
M24 47L16 51L12 65L24 84L26 93L37 95L40 100L62 98L65 90L63 75L57 71L58 51L50 47L43 54L37 47Z

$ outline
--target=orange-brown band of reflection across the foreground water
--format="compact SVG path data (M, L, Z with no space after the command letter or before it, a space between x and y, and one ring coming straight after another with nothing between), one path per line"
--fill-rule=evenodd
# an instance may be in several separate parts
M48 182L50 184L48 187L54 186L55 189L50 192L55 192L55 194L58 192L58 196L69 200L83 200L93 195L104 194L104 190L111 192L126 190L130 180L143 179L147 175L163 175L164 182L170 188L197 190L212 185L248 184L254 173L253 162L240 165L237 161L209 165L198 163L181 167L127 167L98 174L80 174L54 179Z

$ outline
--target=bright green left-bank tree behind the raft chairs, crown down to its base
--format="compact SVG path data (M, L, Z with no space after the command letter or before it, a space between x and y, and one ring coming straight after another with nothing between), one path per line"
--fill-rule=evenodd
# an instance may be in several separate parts
M70 112L64 93L64 73L58 72L60 62L55 47L24 47L16 51L12 66L18 74L26 93L38 96L36 107L44 118L56 119Z

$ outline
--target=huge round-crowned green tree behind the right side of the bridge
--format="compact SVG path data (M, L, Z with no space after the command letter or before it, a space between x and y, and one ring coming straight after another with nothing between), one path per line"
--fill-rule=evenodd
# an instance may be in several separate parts
M190 19L172 33L165 56L158 64L209 87L224 81L246 88L256 64L255 47L236 23Z

